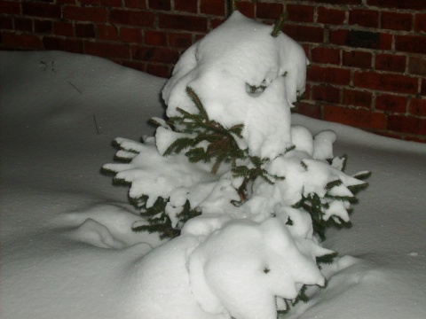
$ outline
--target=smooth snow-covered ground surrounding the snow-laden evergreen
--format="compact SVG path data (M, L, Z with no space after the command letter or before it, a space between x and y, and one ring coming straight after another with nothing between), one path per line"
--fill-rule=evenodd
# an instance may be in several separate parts
M154 133L146 121L164 113L165 80L58 51L0 52L0 63L0 317L145 319L138 265L160 242L131 232L128 188L99 168L115 137ZM327 233L341 256L324 270L327 289L286 317L426 317L425 144L300 115L292 124L335 130L347 172L373 175L352 229ZM165 292L173 303L178 289Z

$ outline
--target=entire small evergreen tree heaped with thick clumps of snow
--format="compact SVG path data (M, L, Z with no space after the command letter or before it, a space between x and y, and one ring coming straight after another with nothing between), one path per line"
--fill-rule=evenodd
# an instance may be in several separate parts
M103 168L131 185L146 216L133 229L176 237L141 261L148 317L171 303L178 318L272 319L325 285L319 264L336 253L319 240L351 226L368 172L343 173L335 132L291 125L307 64L287 35L234 12L178 61L155 136L115 139L123 163ZM155 271L164 263L176 270ZM165 299L164 285L180 288Z

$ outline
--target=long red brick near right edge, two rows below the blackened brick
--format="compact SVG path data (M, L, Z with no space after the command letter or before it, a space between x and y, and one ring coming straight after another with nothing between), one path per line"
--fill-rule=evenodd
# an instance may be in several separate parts
M377 89L406 94L417 93L417 79L402 74L355 72L353 84L359 88Z

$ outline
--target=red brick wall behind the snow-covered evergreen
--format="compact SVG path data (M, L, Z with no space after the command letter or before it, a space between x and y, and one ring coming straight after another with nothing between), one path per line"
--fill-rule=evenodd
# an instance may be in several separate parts
M426 1L240 1L312 61L298 112L426 142ZM179 55L225 19L225 0L0 0L0 49L61 50L170 76Z

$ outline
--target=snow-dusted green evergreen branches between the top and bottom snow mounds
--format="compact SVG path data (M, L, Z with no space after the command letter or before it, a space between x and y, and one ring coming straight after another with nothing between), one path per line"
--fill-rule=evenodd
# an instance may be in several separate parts
M272 26L273 38L282 36L285 19L283 12ZM295 77L287 71L281 75L289 81ZM261 95L269 84L267 79L257 84L246 82L247 93ZM288 134L292 135L292 144L283 147L278 156L262 157L241 143L246 138L244 122L226 126L212 118L202 96L191 86L186 86L185 94L194 112L177 107L176 115L167 120L152 119L157 126L155 137L146 137L142 143L116 139L119 150L115 159L122 164L103 167L115 175L115 183L131 185L130 200L146 219L133 230L156 232L161 238L177 237L186 222L210 214L212 203L215 214L231 214L233 218L284 218L290 231L306 229L306 239L315 245L316 240L309 235L310 225L303 224L307 220L319 240L326 238L331 227L351 227L351 205L358 203L357 193L367 188L364 180L370 173L344 173L347 157L333 157L328 150L334 142L329 137L334 133L321 132L312 138L307 129L298 132L291 128ZM257 211L259 203L266 212ZM319 254L315 262L320 268L336 256ZM264 268L264 274L269 271ZM307 300L304 285L296 300L277 299L277 307L281 312L290 304Z

